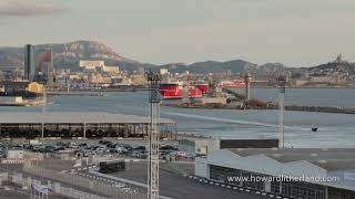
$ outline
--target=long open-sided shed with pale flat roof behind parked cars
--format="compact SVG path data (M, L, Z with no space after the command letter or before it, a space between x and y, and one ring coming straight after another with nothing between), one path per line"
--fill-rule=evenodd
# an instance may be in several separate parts
M144 116L92 112L0 113L0 138L102 138L149 135ZM176 123L162 118L161 138L176 138Z

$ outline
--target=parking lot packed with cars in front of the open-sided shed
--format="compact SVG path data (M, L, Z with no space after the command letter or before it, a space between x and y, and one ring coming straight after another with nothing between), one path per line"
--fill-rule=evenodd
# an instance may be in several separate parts
M89 157L92 155L113 155L116 157L146 159L149 153L148 140L37 140L17 145L0 143L0 156L7 157L10 149L23 149L41 154L71 154ZM164 140L160 146L161 159L175 160L178 158L194 159L194 153L179 143Z

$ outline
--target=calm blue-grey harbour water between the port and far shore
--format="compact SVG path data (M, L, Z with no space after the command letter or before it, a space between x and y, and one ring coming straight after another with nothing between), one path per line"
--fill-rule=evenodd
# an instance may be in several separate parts
M253 95L276 101L277 90L256 88ZM287 90L286 104L355 107L355 90ZM149 114L148 93L108 93L105 96L55 96L48 112L110 112ZM0 107L1 112L41 112L41 107ZM161 108L161 117L178 122L181 133L223 138L276 138L277 111ZM318 132L311 130L318 127ZM355 147L355 115L286 112L285 144L291 147Z

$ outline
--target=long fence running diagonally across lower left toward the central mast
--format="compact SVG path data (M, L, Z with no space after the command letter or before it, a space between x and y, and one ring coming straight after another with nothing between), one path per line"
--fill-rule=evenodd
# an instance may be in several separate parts
M104 196L110 198L118 198L118 199L146 199L146 193L135 192L135 191L124 191L120 188L113 187L112 185L92 180L89 178L84 178L73 174L65 174L59 172L55 170L43 169L42 167L34 167L33 165L23 165L23 171L36 175L36 176L43 176L44 178L52 179L55 181L60 181L62 184L67 184L73 187L78 187L81 189L90 190L92 193L97 193L98 196ZM64 193L68 193L70 189L63 189ZM75 192L71 193L73 196L80 196ZM91 199L88 198L80 198L80 199Z

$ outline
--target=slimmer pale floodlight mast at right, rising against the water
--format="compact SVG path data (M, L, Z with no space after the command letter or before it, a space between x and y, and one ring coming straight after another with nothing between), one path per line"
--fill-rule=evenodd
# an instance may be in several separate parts
M286 77L278 77L280 91L278 91L278 148L285 146L285 128L284 128L284 112L285 112L285 93L286 93Z

